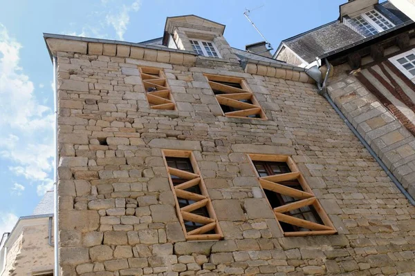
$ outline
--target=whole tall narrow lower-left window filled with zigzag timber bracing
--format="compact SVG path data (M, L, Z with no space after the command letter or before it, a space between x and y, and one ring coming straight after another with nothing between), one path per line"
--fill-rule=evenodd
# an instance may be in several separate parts
M163 157L186 239L222 239L222 230L192 152L163 150Z

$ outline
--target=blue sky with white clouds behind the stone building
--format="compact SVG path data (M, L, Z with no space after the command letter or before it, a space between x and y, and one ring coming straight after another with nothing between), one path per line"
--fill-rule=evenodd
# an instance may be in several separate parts
M338 18L346 0L0 0L0 233L30 215L53 184L53 70L42 32L140 42L163 35L166 17L196 14L226 25L243 49L282 39Z

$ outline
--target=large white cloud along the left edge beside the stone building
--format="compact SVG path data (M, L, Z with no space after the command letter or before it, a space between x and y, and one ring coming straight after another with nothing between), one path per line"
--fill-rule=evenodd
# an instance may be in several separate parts
M55 116L19 66L21 48L0 23L0 158L10 161L11 172L44 185L53 168Z

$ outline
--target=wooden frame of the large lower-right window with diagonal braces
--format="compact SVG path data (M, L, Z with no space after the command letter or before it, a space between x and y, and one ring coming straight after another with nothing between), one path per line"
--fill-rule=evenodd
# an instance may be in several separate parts
M326 214L326 212L322 208L322 205L318 201L317 197L315 197L313 190L311 190L310 186L308 186L306 179L300 172L299 168L297 167L297 164L295 164L295 162L290 156L288 155L265 155L265 154L247 154L247 155L248 155L248 160L252 168L255 171L255 175L257 176L259 180L259 184L260 184L259 186L261 188L262 195L266 199L268 206L270 206L271 210L273 210L273 214L275 215L275 220L277 221L279 229L282 231L284 237L334 235L337 233L337 230L335 229L333 223L331 222L331 219L329 218L329 216ZM281 175L270 175L266 177L260 177L253 161L285 162L288 168L290 168L291 172L284 173ZM272 179L276 179L276 180L272 181ZM299 201L294 201L291 204L285 204L285 205L273 208L270 202L268 201L265 190L271 190L274 193L278 193L277 190L279 190L279 187L282 185L277 184L276 181L286 181L286 180L291 180L291 179L297 179L299 184L302 186L303 191L299 191L300 193L297 193L297 194L301 194L302 197L304 197L304 199L300 199ZM295 222L297 224L298 223L304 224L304 221L306 221L304 219L297 219L290 215L284 215L284 213L288 212L289 210L297 210L298 208L301 208L302 206L313 206L313 208L315 208L315 212L319 215L321 221L323 222L323 224L320 224L321 226L320 228L323 230L308 230L308 231L293 231L293 232L286 232L283 230L279 221L282 221L288 224L292 224L291 222ZM293 207L293 209L289 209L290 207ZM287 222L287 221L291 221L291 222ZM311 224L308 224L308 225L304 224L304 225L310 226Z

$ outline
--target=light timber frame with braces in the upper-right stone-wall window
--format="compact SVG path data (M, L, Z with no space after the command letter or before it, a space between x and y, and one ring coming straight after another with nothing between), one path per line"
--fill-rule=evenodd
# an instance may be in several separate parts
M230 117L230 118L239 118L239 119L268 120L268 118L266 117L266 114L264 112L264 109L261 107L261 105L259 104L259 102L255 98L254 93L252 92L252 90L248 86L248 83L246 82L245 79L240 78L240 77L231 77L231 76L223 76L223 75L212 75L212 74L203 74L203 75L205 76L206 80L208 81L210 89L212 90L213 94L214 94L214 91L213 91L214 89L215 90L220 90L221 89L221 88L218 88L218 87L222 87L223 90L230 89L230 90L228 90L228 92L224 92L223 95L228 95L228 97L229 97L229 95L235 95L237 97L238 93L241 93L241 95L246 95L246 96L250 95L249 100L252 103L249 103L249 104L251 104L252 106L255 106L255 108L260 108L259 112L256 113L257 115L259 115L259 118L257 118L257 117L248 117L249 115L246 115L246 116L233 115L234 114L233 112L241 113L243 110L247 110L247 109L251 109L251 108L246 108L246 109L240 108L240 110L238 110L238 111L225 112L225 111L223 111L223 108L221 106L224 105L223 101L226 100L226 99L223 99L223 98L227 97L227 96L223 96L221 94L220 95L214 94L216 102L218 103L219 107L221 108L221 112L222 112L223 116ZM225 86L225 85L223 85L221 83L217 83L215 81L238 83L241 86L241 88L232 88L232 86L227 86L227 87L223 88L223 86ZM232 92L232 90L233 90L233 92ZM218 97L219 97L219 99L218 99ZM230 99L238 100L236 98L230 98ZM241 104L243 105L242 102L241 102ZM231 114L229 114L229 113L231 113Z

